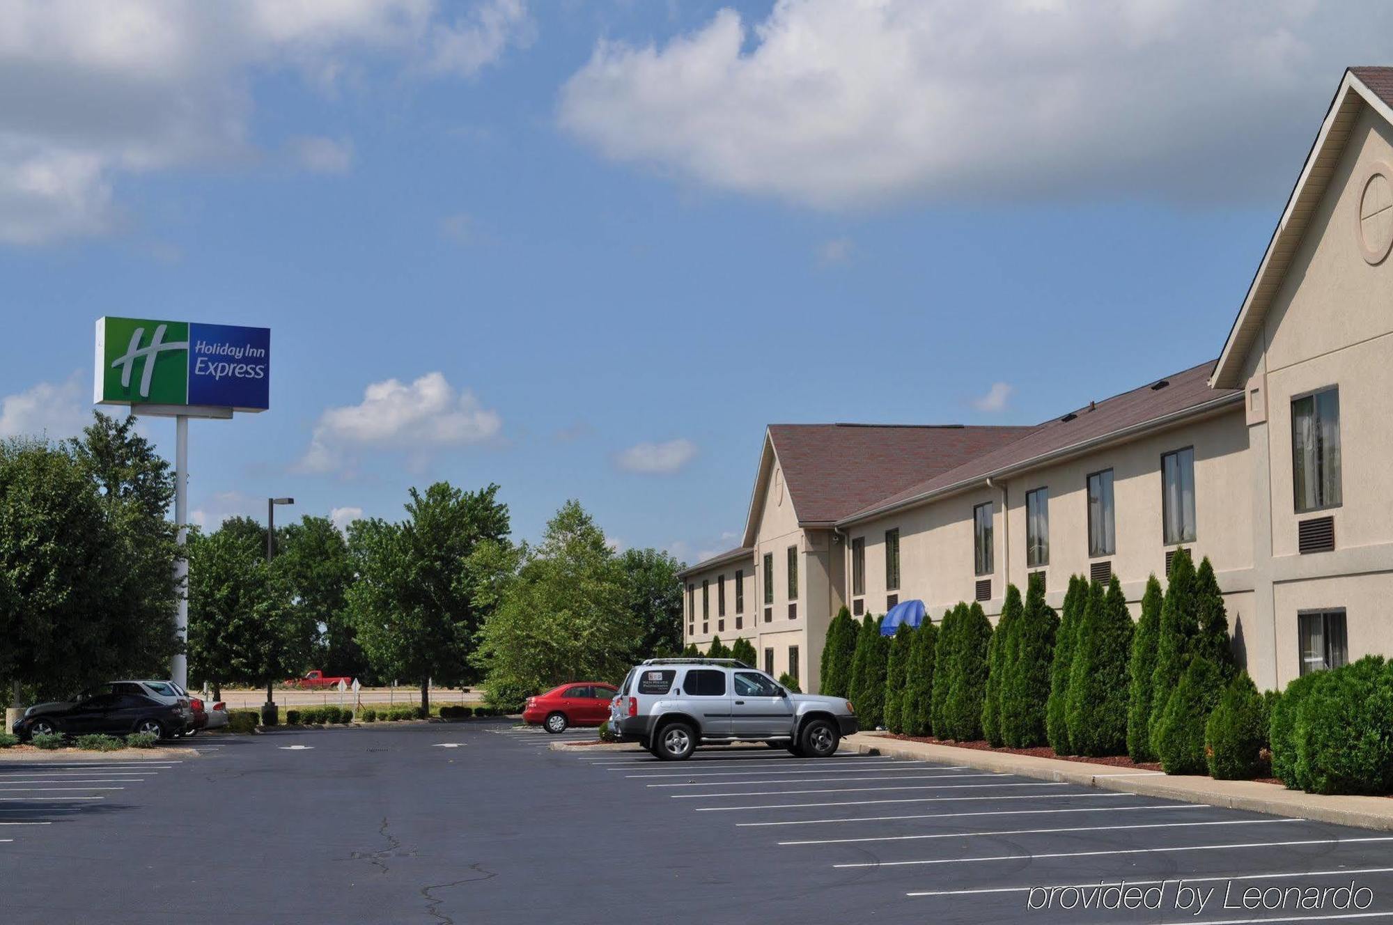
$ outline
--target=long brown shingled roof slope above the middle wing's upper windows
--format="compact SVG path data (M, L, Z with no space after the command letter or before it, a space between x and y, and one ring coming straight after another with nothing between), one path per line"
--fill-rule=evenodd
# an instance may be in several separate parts
M854 514L844 515L843 520L864 518L886 508L911 503L922 496L982 481L989 475L1029 465L1032 461L1045 461L1056 454L1067 453L1071 447L1109 436L1121 436L1131 428L1155 423L1169 415L1198 410L1202 405L1231 400L1241 394L1238 389L1209 387L1209 373L1213 372L1215 362L1211 359L1139 389L1106 398L1092 407L1085 405L1067 415L1050 418L1036 428L1028 428L1029 433L1018 440L979 454L900 492L868 502ZM1160 383L1166 384L1160 386Z

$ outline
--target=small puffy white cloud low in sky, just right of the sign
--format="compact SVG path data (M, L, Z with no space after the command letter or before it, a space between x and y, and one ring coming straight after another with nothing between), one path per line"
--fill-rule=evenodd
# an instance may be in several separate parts
M442 446L489 443L501 429L496 411L482 407L472 391L457 391L443 373L430 372L410 384L387 379L364 389L361 403L319 415L298 468L333 471L348 447L394 447L419 456Z

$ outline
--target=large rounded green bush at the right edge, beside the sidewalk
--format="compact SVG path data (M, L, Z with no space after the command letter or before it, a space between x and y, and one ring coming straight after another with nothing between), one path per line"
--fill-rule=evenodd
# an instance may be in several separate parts
M1368 655L1318 674L1297 709L1297 783L1307 793L1389 793L1393 666Z

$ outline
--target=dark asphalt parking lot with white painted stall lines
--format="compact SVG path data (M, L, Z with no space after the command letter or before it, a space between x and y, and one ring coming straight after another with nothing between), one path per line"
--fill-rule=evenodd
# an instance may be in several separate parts
M553 741L432 723L0 761L0 816L22 823L0 826L4 921L1393 918L1393 833L847 752L674 765ZM1138 908L1092 889L1120 880ZM1243 908L1250 889L1276 908Z

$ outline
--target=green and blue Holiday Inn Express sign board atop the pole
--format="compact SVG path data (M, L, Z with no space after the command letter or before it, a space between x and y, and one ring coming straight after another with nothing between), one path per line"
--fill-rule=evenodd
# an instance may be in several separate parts
M93 400L265 411L270 329L99 318Z

